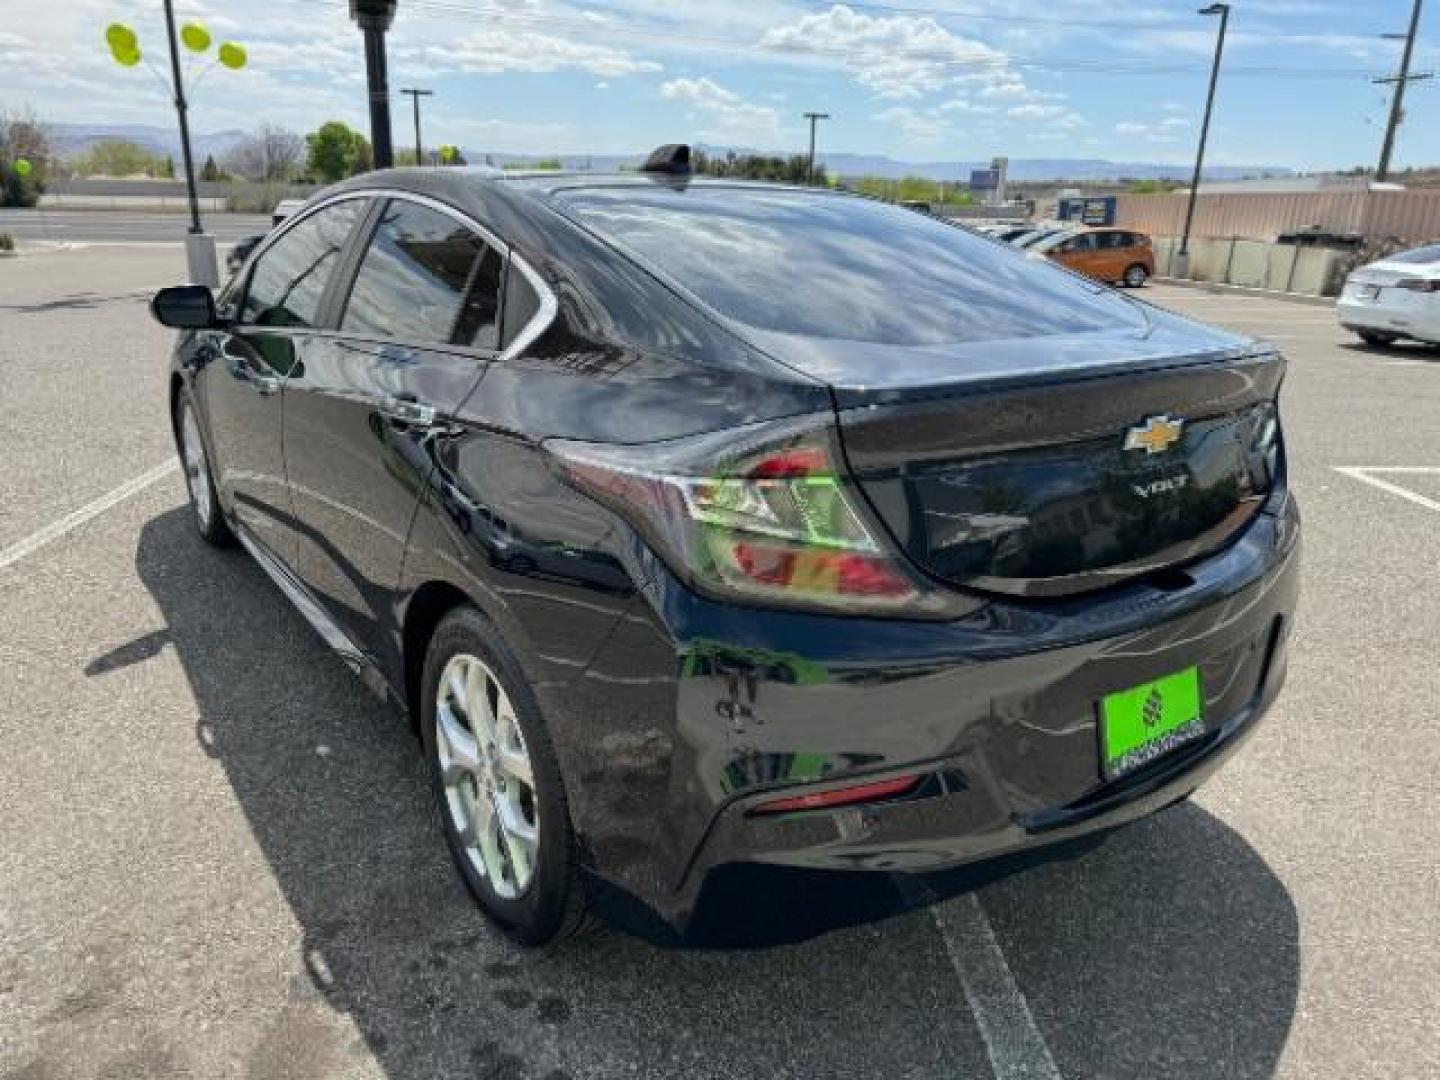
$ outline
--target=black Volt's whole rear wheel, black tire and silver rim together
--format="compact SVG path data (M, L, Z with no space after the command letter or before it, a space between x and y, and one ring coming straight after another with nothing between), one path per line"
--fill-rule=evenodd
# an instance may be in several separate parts
M452 611L425 657L420 732L445 841L471 896L523 945L585 923L560 766L540 706L494 624Z

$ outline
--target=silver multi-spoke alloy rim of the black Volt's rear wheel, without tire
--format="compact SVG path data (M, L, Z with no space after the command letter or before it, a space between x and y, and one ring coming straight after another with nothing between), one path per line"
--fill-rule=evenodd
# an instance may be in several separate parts
M540 811L520 721L490 667L451 657L435 694L435 750L451 825L495 894L521 896L534 880Z

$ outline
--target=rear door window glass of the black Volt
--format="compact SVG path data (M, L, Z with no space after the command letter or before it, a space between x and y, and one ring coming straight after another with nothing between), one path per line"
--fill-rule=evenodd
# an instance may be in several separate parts
M494 348L503 269L501 253L455 217L392 200L366 248L340 328Z

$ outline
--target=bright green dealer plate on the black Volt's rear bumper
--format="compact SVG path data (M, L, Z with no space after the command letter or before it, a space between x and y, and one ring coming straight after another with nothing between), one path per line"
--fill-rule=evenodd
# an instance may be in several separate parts
M1106 779L1153 762L1204 734L1200 668L1185 668L1100 698L1100 760Z

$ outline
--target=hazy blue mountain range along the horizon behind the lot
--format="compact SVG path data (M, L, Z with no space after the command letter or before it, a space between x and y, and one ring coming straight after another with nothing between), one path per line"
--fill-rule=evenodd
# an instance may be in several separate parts
M85 153L95 143L107 138L124 138L140 143L157 154L180 156L180 135L173 128L147 124L52 124L50 132L60 156L72 157ZM245 138L245 131L215 131L194 134L193 148L203 161L206 156L225 157L236 143ZM793 150L753 150L747 147L717 147L697 144L707 154L724 156L730 150L737 154L792 154ZM487 153L474 147L462 147L471 164L491 161L495 166L524 164L552 154L504 154ZM612 173L621 167L635 167L645 160L644 153L635 154L559 154L566 168L588 168L596 173ZM989 161L899 161L880 154L819 154L831 173L840 176L923 176L930 180L965 183L971 170L986 168ZM1106 161L1103 158L1011 158L1009 179L1018 183L1076 181L1115 183L1116 180L1189 180L1189 166L1161 166L1146 161ZM1259 176L1295 176L1293 168L1283 166L1212 166L1205 170L1210 180L1240 180Z

